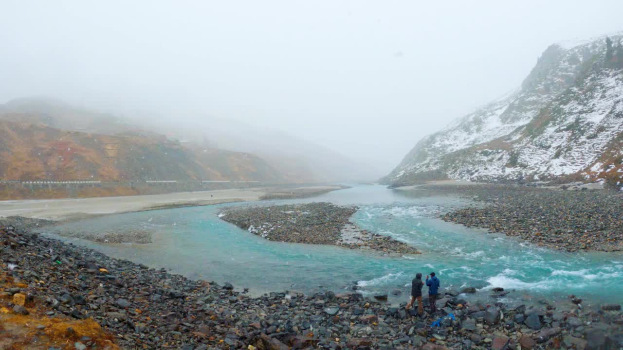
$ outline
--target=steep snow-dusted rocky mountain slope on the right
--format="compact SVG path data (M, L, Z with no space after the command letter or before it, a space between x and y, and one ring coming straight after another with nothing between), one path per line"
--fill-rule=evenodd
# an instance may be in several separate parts
M623 186L622 39L618 34L549 46L521 88L422 138L382 181Z

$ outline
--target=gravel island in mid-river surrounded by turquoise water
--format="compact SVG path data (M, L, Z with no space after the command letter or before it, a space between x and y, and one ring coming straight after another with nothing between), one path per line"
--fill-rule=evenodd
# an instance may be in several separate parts
M349 218L357 207L328 202L270 207L235 207L219 217L252 234L277 242L329 244L384 253L418 254L416 248L391 237L359 229Z

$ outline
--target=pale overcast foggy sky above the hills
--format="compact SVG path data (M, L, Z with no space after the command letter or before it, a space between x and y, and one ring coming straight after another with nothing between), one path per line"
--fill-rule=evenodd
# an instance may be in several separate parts
M518 87L549 44L621 31L622 13L620 0L0 0L0 102L209 113L388 173Z

